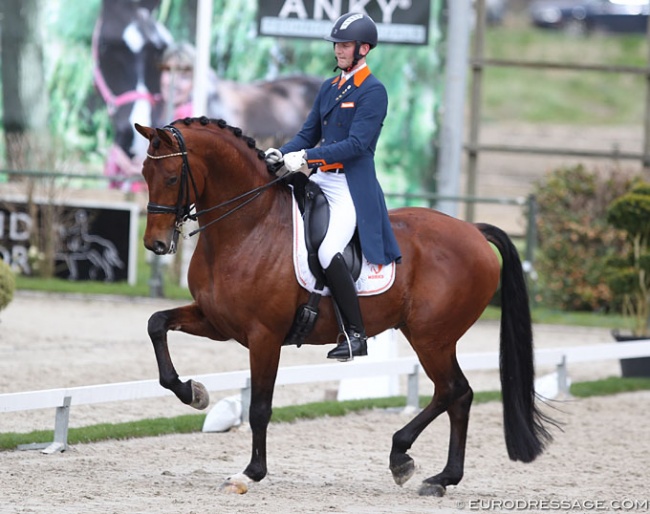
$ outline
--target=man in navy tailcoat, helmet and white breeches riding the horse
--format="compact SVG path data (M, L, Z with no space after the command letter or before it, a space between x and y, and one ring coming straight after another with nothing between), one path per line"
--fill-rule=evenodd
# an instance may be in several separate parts
M325 39L334 43L334 69L341 73L323 83L300 132L280 149L269 148L266 156L269 163L284 156L288 172L308 175L329 202L330 221L318 260L349 345L342 341L327 357L349 360L368 350L356 287L342 252L357 228L369 262L390 264L401 255L375 173L375 148L388 107L384 85L366 64L377 45L377 27L365 14L348 13Z

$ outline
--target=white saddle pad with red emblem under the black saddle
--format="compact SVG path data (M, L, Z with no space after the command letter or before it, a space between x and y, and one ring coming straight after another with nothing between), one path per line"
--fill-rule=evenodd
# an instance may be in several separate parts
M310 293L315 291L316 277L309 269L307 262L307 245L305 243L304 220L300 215L300 209L296 199L293 198L293 265L296 270L298 283ZM372 264L362 256L361 274L356 282L357 294L359 296L372 296L383 293L390 289L395 281L395 263L388 265ZM327 287L322 294L329 296Z

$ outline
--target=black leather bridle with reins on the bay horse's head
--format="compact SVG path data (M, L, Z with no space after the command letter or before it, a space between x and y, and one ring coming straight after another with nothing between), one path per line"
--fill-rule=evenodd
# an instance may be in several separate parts
M164 155L151 155L150 153L147 153L147 157L149 159L168 159L171 157L181 157L183 159L183 164L181 166L181 184L178 188L178 197L176 199L176 204L175 205L163 205L159 203L154 203L154 202L149 202L147 203L147 213L149 214L173 214L176 216L176 221L175 221L175 230L177 233L181 232L181 228L183 224L188 221L197 221L199 216L203 216L204 214L207 214L209 212L212 212L216 209L220 209L222 207L229 206L232 203L235 203L239 200L244 200L240 204L236 205L235 207L231 208L230 210L226 211L224 214L219 216L218 218L215 218L211 220L209 223L206 223L205 225L200 226L196 230L193 230L190 232L185 238L190 238L195 234L198 234L199 232L202 232L206 228L208 228L210 225L213 223L216 223L217 221L221 221L222 219L230 216L234 212L238 211L245 205L248 205L250 202L255 200L258 196L260 196L264 191L269 189L272 185L276 184L279 182L282 177L276 177L274 180L271 182L268 182L264 184L263 186L256 187L254 189L251 189L250 191L247 191L239 196L236 196L235 198L231 198L230 200L226 200L225 202L221 202L218 205L214 205L212 207L209 207L207 209L203 209L202 211L196 211L196 206L193 204L190 200L190 187L189 184L192 184L192 189L194 190L194 198L195 200L198 198L198 190L196 188L196 182L194 180L194 176L192 175L192 170L190 168L190 163L187 159L187 148L185 146L185 140L183 139L183 134L181 134L181 131L178 130L176 127L173 125L165 125L163 127L165 130L169 130L176 141L178 142L178 152L174 153L169 153L169 154L164 154ZM194 212L192 212L194 211Z

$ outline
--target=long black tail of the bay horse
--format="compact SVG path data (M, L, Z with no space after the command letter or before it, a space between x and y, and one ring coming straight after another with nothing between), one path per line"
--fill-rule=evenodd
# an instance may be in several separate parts
M503 230L483 223L476 226L502 259L499 368L508 456L531 462L552 440L545 424L555 422L535 403L533 329L524 272L517 249Z

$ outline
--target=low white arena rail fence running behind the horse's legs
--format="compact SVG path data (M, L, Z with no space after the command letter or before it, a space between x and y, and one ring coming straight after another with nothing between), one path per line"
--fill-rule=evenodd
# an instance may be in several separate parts
M650 357L650 339L611 344L559 347L535 351L536 366L555 366L557 391L559 395L569 394L567 366L581 362L613 359ZM460 353L461 369L494 370L499 368L498 352ZM418 379L420 364L417 357L401 357L391 360L347 363L328 363L308 366L287 366L278 370L277 385L305 384L368 377L394 377L406 375L406 408L417 410ZM188 377L183 377L186 380ZM250 404L250 372L231 371L196 375L193 380L201 382L208 391L240 389L242 395L242 421L248 421ZM68 420L72 405L89 405L105 402L142 400L173 395L158 383L158 380L141 380L92 386L27 391L0 394L0 413L35 409L56 409L54 441L47 444L23 445L20 449L41 449L43 453L54 453L67 448Z

